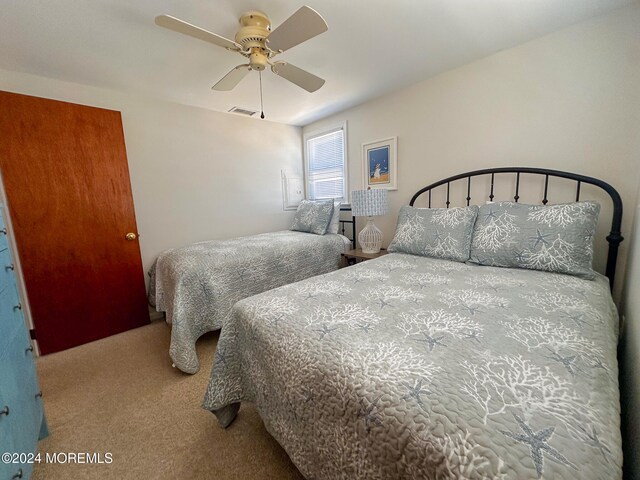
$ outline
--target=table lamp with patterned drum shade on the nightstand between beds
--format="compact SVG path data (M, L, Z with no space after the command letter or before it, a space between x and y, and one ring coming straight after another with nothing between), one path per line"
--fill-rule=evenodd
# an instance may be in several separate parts
M351 208L354 217L368 217L367 224L358 235L363 253L378 253L382 247L382 231L373 223L376 215L386 215L389 210L387 190L354 190L351 192Z

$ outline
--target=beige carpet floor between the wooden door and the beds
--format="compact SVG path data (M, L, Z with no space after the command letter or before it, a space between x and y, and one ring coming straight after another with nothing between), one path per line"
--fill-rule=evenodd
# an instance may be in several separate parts
M171 368L164 322L38 359L51 435L40 452L109 452L110 465L36 465L34 479L302 479L243 404L227 429L200 408L218 334L202 368Z

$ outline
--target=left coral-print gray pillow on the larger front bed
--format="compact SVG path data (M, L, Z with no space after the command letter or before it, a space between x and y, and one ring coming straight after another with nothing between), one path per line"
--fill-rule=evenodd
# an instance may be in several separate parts
M388 251L465 262L478 207L400 209Z

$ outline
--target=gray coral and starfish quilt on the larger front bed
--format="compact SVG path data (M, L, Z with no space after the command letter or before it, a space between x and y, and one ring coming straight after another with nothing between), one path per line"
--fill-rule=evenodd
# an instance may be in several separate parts
M204 407L309 479L620 479L617 329L604 277L389 254L236 304Z

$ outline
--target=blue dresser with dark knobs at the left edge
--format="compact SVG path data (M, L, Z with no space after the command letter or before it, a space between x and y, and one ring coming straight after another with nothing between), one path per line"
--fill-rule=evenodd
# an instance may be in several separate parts
M0 454L13 454L0 480L30 478L29 456L48 433L6 229L0 204Z

